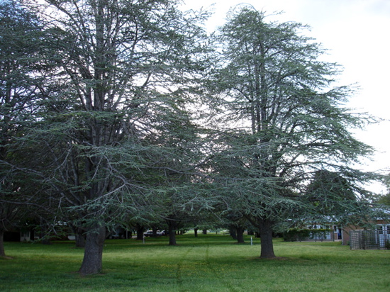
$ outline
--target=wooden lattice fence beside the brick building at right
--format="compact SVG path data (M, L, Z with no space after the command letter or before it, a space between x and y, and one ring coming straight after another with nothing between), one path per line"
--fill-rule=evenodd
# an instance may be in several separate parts
M351 249L390 249L390 230L350 230Z

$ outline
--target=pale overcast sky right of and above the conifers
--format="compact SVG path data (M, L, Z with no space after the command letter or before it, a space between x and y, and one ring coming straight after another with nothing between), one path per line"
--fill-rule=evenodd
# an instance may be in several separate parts
M354 112L382 119L355 137L375 148L371 159L363 159L360 169L390 173L390 0L184 0L184 9L213 11L206 26L211 32L225 23L231 7L249 4L271 15L269 21L295 21L311 27L305 35L328 50L327 62L342 66L338 85L356 84L359 91L347 106ZM381 184L368 189L386 192Z

